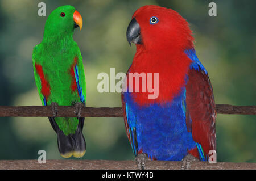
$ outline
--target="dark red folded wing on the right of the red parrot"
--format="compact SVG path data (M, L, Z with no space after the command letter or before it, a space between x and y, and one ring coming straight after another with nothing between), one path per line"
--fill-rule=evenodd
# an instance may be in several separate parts
M216 110L207 71L200 68L188 70L186 104L188 131L192 131L193 140L203 148L204 158L207 159L209 150L216 150ZM199 146L197 149L200 152Z

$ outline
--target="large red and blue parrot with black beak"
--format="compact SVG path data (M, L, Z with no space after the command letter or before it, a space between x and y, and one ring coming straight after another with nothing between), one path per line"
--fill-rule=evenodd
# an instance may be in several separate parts
M209 151L216 150L216 108L188 22L172 9L143 6L133 14L126 36L137 48L127 79L133 73L159 74L159 81L151 80L158 81L155 99L148 90L130 91L128 83L122 92L126 133L138 169L145 169L146 158L182 161L181 169L199 159L208 161Z

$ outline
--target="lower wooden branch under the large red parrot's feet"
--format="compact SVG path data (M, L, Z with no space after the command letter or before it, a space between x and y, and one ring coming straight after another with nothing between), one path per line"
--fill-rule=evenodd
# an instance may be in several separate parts
M171 161L147 161L146 169L177 170L180 169L181 162ZM108 161L108 160L47 160L46 163L39 164L37 160L2 160L0 169L108 169L108 170L136 170L135 161ZM256 163L230 163L217 162L210 164L208 162L196 162L191 166L192 170L209 169L256 169Z

